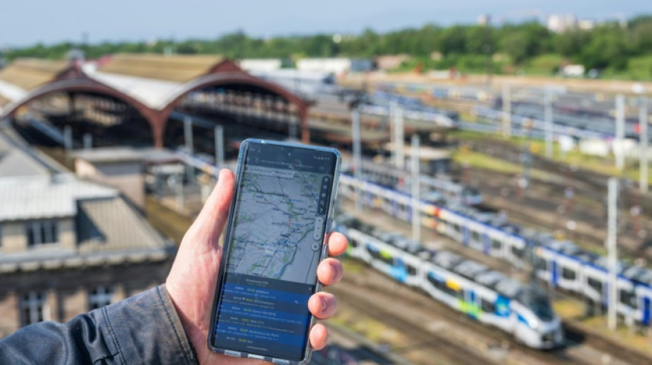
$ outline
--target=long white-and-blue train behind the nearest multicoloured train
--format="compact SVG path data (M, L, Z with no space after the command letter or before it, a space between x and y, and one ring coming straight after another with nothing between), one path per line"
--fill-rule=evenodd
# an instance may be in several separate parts
M340 194L353 197L360 189L366 206L382 210L403 221L412 220L410 194L373 181L342 174ZM442 207L419 200L420 223L436 234L452 238L517 267L530 264L538 279L555 288L577 294L597 310L609 305L609 272L606 257L581 249L568 240L522 228L506 217L474 207ZM616 312L628 325L649 326L652 315L652 270L618 262Z

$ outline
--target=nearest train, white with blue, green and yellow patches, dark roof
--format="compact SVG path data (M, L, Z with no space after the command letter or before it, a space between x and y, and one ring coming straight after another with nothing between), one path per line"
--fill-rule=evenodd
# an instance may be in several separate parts
M521 284L450 251L426 249L346 214L337 216L335 229L349 238L350 257L423 290L469 318L506 331L533 349L563 344L561 320L536 286Z

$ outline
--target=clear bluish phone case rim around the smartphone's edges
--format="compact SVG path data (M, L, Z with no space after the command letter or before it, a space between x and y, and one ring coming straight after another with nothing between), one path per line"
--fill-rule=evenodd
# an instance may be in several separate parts
M326 237L328 234L330 234L333 231L333 214L335 210L335 202L336 202L336 196L337 196L337 190L338 190L338 185L339 185L339 180L340 180L340 166L342 164L342 155L340 154L340 151L334 148L330 147L318 147L318 146L310 146L307 144L299 144L299 143L290 143L290 142L277 142L277 141L272 141L272 140L261 140L261 139L255 139L255 138L248 138L242 142L242 145L240 147L240 153L238 154L237 158L237 171L235 173L235 182L234 185L237 187L239 185L240 179L242 178L242 169L244 168L244 149L248 146L249 143L262 143L262 144L277 144L281 145L284 147L296 147L296 148L301 148L301 149L312 149L314 151L325 151L325 152L330 152L334 153L336 155L336 165L335 165L335 172L333 176L333 191L331 193L331 197L329 200L329 207L327 211L327 216L326 216L326 227L324 229L324 239L322 242L322 250L320 253L319 257L319 262L323 261L327 256L328 256L328 243L326 242ZM232 199L231 201L231 206L229 207L229 224L226 227L226 234L224 235L224 244L226 242L229 242L231 238L231 216L233 215L233 210L235 209L235 199ZM225 247L226 249L226 247ZM216 293L215 297L213 299L213 310L211 312L211 327L209 331L209 336L207 338L208 342L208 347L214 352L217 353L224 353L225 355L231 355L231 356L237 356L237 357L249 357L257 360L264 360L267 362L272 362L274 364L288 364L288 365L303 365L307 364L310 362L310 356L312 355L312 349L310 347L310 340L307 341L306 347L305 347L305 353L304 353L304 360L302 361L293 361L293 360L287 360L287 359L279 359L275 357L268 357L268 356L263 356L263 355L257 355L255 353L247 353L243 351L233 351L229 349L222 349L218 347L213 347L213 343L211 342L211 336L213 331L215 331L215 316L217 314L217 303L218 303L218 290L220 286L222 286L222 279L224 278L224 275L222 275L222 268L225 268L225 263L226 263L226 256L227 255L222 255L222 260L220 262L220 280L218 281L218 287L216 287ZM322 284L319 282L317 279L316 285L315 285L315 292L320 292L322 289ZM310 317L310 328L312 328L315 324L316 318L314 316Z

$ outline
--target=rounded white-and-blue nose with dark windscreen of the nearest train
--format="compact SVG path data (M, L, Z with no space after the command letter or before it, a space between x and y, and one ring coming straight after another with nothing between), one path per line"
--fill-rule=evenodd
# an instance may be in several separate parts
M563 343L561 319L548 296L537 288L524 288L515 298L514 336L528 347L554 349Z

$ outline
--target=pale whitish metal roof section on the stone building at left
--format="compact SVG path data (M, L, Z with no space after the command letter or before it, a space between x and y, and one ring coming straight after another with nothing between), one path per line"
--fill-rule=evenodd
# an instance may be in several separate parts
M81 199L117 195L113 188L71 174L0 178L0 221L75 216Z

